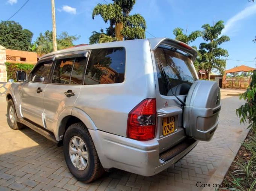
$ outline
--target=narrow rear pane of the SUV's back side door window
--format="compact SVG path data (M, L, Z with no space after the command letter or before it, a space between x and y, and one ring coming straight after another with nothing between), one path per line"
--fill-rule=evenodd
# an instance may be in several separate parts
M85 57L78 57L75 59L70 84L82 84L83 72L85 71L86 65L85 62Z

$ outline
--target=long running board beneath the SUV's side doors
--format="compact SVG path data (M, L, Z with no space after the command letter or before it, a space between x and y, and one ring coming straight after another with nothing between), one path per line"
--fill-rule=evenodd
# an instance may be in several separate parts
M36 131L37 133L41 134L42 136L46 137L47 139L51 140L52 142L58 143L56 141L55 136L52 132L42 128L40 125L35 124L32 121L27 119L18 119L18 122L26 125L27 127L31 128L32 130Z

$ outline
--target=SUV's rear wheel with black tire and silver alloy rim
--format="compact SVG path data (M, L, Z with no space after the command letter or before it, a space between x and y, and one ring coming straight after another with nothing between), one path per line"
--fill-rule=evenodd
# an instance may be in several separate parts
M91 182L104 173L92 138L83 123L68 127L63 148L68 169L79 181Z

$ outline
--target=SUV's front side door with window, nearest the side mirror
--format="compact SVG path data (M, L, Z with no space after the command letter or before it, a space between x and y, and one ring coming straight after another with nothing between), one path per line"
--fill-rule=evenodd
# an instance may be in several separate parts
M52 57L39 61L29 75L29 81L21 86L21 112L24 118L43 124L44 93L52 68Z

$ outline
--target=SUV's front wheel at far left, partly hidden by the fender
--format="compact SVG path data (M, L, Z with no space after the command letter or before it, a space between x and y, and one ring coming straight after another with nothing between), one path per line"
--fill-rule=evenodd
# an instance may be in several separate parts
M12 99L10 99L7 105L7 123L14 130L22 129L25 127L25 125L17 122L17 119L18 118L17 118L14 103Z

